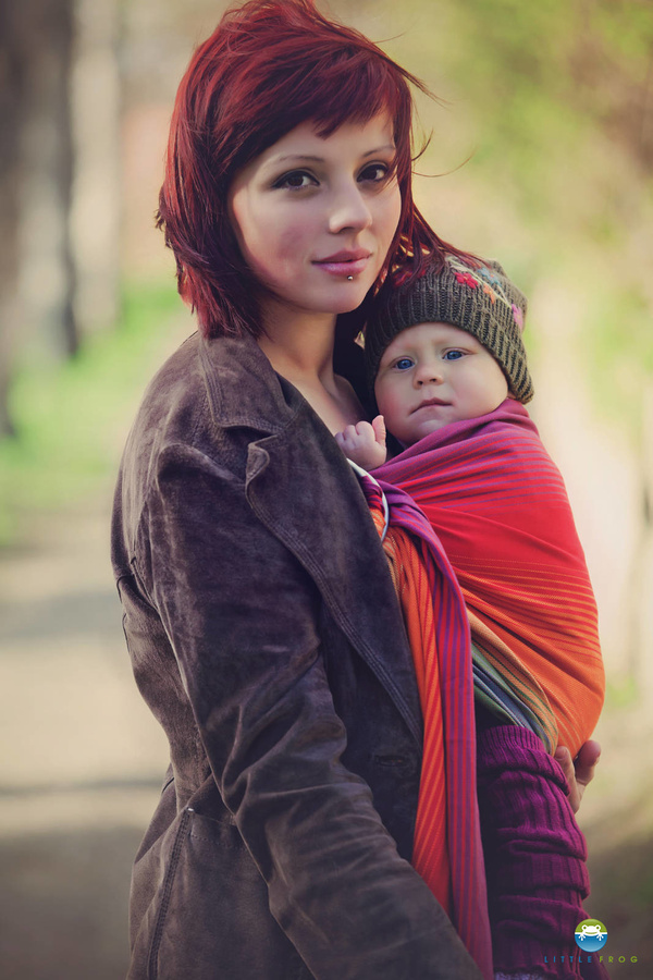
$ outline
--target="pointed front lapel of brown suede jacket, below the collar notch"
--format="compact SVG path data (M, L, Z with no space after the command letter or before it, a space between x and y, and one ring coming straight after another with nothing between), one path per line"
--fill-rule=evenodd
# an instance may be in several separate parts
M421 745L415 669L379 535L352 468L308 404L282 433L250 444L246 493Z

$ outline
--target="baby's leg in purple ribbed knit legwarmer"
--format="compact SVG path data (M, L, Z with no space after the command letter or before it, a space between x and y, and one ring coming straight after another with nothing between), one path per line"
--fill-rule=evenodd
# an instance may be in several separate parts
M588 918L587 847L560 767L526 728L496 725L483 710L477 719L494 969L556 980L607 977L574 939Z

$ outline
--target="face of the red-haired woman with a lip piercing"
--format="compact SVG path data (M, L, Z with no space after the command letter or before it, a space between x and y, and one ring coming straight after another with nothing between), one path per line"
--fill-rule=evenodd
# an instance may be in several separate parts
M235 176L229 193L243 257L276 303L355 309L379 275L399 220L389 177L392 123L344 123L321 138L301 123Z

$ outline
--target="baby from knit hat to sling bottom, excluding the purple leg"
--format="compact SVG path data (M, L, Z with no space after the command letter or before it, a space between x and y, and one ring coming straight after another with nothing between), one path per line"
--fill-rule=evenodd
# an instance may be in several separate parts
M603 701L596 609L563 479L523 407L526 310L498 262L451 256L386 292L365 346L381 414L335 438L438 535L485 669L483 703L576 755ZM390 462L385 427L403 446Z

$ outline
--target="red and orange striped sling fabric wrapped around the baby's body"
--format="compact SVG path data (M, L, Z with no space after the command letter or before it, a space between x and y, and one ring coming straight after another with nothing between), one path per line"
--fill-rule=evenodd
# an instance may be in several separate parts
M539 702L550 751L559 738L575 755L603 705L596 604L565 485L526 408L507 400L446 426L374 476L423 511L475 642L518 697Z

